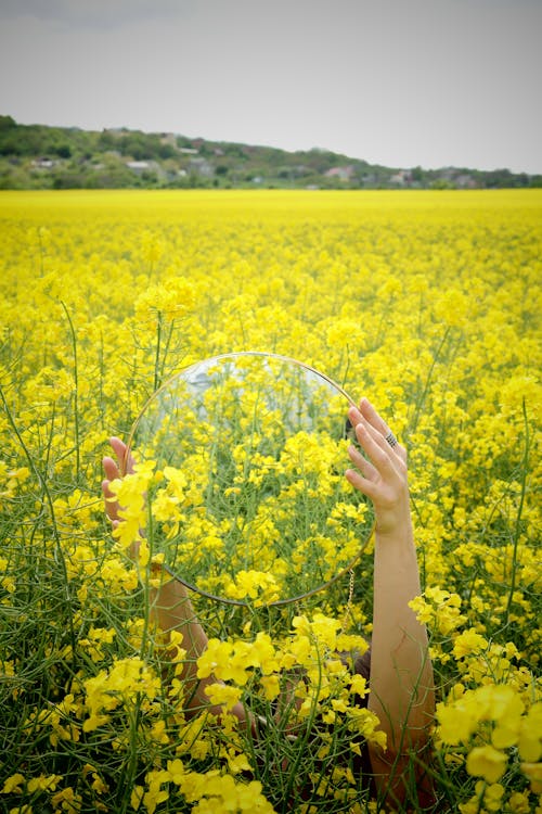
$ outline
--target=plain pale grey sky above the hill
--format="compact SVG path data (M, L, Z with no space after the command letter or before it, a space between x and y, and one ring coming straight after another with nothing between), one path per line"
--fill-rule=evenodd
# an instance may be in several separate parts
M0 0L0 113L542 173L542 0Z

